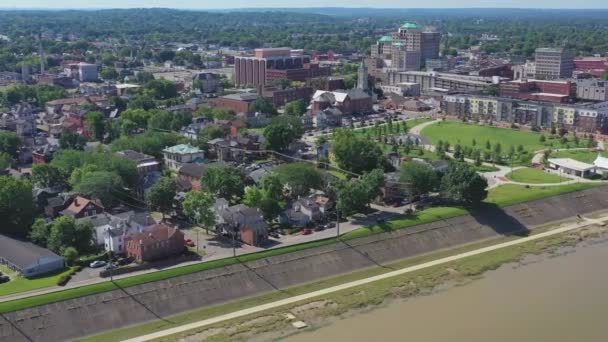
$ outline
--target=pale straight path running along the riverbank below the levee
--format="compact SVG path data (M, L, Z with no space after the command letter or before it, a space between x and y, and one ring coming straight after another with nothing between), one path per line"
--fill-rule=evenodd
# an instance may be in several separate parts
M365 279L360 279L360 280L348 282L348 283L337 285L337 286L332 286L332 287L329 287L329 288L326 288L326 289L322 289L322 290L318 290L318 291L313 291L313 292L302 294L302 295L299 295L299 296L293 296L293 297L282 299L282 300L278 300L278 301L275 301L275 302L272 302L272 303L267 303L267 304L255 306L255 307L252 307L252 308L243 309L243 310L235 311L235 312L232 312L232 313L220 315L220 316L217 316L217 317L205 319L205 320L202 320L202 321L198 321L198 322L194 322L194 323L190 323L190 324L185 324L185 325L182 325L182 326L179 326L179 327L162 330L162 331L159 331L159 332L156 332L156 333L152 333L152 334L148 334L148 335L143 335L143 336L140 336L140 337L132 338L132 339L126 340L126 342L144 342L144 341L150 341L150 340L154 340L154 339L160 339L160 338L168 337L168 336L171 336L171 335L174 335L174 334L183 333L183 332L186 332L186 331L189 331L189 330L192 330L192 329L200 329L202 327L213 325L213 324L217 324L217 323L224 322L224 321L227 321L227 320L231 320L231 319L235 319L235 318L241 318L241 317L244 317L244 316L247 316L247 315L259 313L259 312L270 310L270 309L276 309L276 308L279 308L279 307L282 307L282 306L285 306L285 305L289 305L289 304L294 304L294 303L297 303L297 302L300 302L300 301L303 301L303 300L308 300L308 299L312 299L312 298L315 298L315 297L331 294L331 293L334 293L334 292L337 292L337 291L342 291L342 290L350 289L350 288L353 288L353 287L357 287L357 286L361 286L361 285L366 285L366 284L373 283L373 282L376 282L376 281L379 281L379 280L383 280L383 279L387 279L387 278L396 277L396 276L399 276L399 275L415 272L415 271L418 271L418 270L421 270L421 269L425 269L425 268L429 268L429 267L433 267L433 266L437 266L437 265L442 265L442 264L446 264L446 263L450 263L450 262L461 260L461 259L468 258L468 257L471 257L471 256L480 255L480 254L483 254L483 253L488 253L488 252L491 252L491 251L495 251L495 250L498 250L498 249L501 249L501 248L507 248L507 247L512 247L512 246L520 245L522 243L526 243L526 242L530 242L530 241L535 241L535 240L543 239L543 238L546 238L546 237L549 237L549 236L553 236L553 235L557 235L557 234L562 234L562 233L565 233L565 232L569 232L569 231L572 231L572 230L575 230L575 229L580 229L580 228L583 228L583 227L586 227L586 226L590 226L590 225L602 224L602 223L605 223L607 220L608 220L608 217L603 217L602 219L585 219L583 222L580 222L580 223L570 224L570 225L567 225L565 227L556 228L556 229L553 229L553 230L550 230L550 231L547 231L547 232L543 232L543 233L539 233L539 234L536 234L536 235L520 238L520 239L513 240L513 241L499 243L499 244L496 244L496 245L492 245L492 246L476 249L476 250L473 250L473 251L456 254L456 255L453 255L453 256L449 256L449 257L433 260L433 261L430 261L430 262L425 262L425 263L422 263L422 264L419 264L419 265L402 268L400 270L391 271L391 272L380 274L380 275L377 275L377 276L373 276L373 277L369 277L369 278L365 278Z

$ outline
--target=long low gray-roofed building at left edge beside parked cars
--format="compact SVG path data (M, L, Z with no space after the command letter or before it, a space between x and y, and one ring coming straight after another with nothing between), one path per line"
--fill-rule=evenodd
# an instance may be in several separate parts
M0 264L29 278L61 270L65 260L29 241L0 234Z

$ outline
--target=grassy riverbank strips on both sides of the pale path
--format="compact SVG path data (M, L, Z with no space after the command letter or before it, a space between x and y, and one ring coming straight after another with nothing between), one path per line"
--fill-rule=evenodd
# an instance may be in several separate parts
M552 226L540 227L532 232L532 235L552 229ZM187 313L182 313L167 317L166 320L157 320L140 325L135 325L123 329L113 330L98 335L84 337L77 341L80 342L101 342L101 341L118 341L153 332L174 328L180 325L201 321L204 319L216 317L222 314L235 312L238 310L274 302L300 294L313 292L329 288L335 285L356 281L372 277L375 275L390 272L395 269L407 268L410 266L422 264L425 262L438 260L444 257L465 253L472 250L477 250L491 245L517 240L517 236L503 236L481 242L466 244L460 247L432 252L416 257L408 258L402 261L384 265L384 267L373 267L337 277L325 279L318 282L313 282L301 286L288 288L282 291L275 291L261 296L237 300L213 307L193 310ZM551 250L568 243L576 243L577 238L559 234L552 237L547 237L541 240L523 243L514 248L503 248L487 252L484 254L468 257L462 260L454 261L444 265L428 267L412 273L383 279L371 284L366 284L351 289L341 290L332 294L320 296L313 299L304 300L302 302L287 305L285 307L257 313L250 316L233 319L223 323L218 323L213 326L207 326L199 329L194 329L186 333L172 335L164 340L180 340L183 337L196 334L201 331L210 331L217 329L217 335L210 336L211 340L232 340L239 336L240 339L246 340L247 336L243 329L247 329L246 333L253 335L256 333L264 333L268 331L276 331L277 329L289 328L289 322L282 316L283 313L290 309L304 305L306 303L328 300L334 303L328 309L319 309L311 314L316 320L322 320L322 317L337 316L344 314L349 310L360 309L367 306L381 304L387 297L409 297L424 292L427 289L432 289L434 286L442 284L446 281L466 282L474 279L476 276L483 274L486 271L498 268L507 262L517 261L521 257L528 254L538 254L544 251ZM448 271L449 270L449 271ZM415 284L415 285L412 285ZM261 324L251 324L255 317L273 316L276 319L270 319ZM236 328L235 328L236 327ZM241 329L242 328L242 329ZM232 331L230 332L230 330ZM249 335L249 336L250 336Z

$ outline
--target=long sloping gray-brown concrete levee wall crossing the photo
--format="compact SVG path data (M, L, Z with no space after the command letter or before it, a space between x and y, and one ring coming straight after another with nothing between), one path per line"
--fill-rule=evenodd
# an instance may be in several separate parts
M11 312L0 317L0 342L61 341L155 319L170 320L168 316L176 313L603 209L608 209L608 188L594 188Z

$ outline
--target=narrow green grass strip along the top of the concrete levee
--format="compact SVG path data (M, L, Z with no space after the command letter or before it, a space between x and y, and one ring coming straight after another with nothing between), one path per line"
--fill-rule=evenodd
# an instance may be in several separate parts
M503 185L501 187L492 189L486 199L486 202L496 204L498 206L508 206L513 204L518 204L527 201L533 201L537 199L542 199L546 197L555 196L562 193L573 192L578 190L588 189L594 186L598 186L598 184L589 184L589 183L581 183L581 184L570 184L564 186L554 186L554 187L530 187L525 188L524 186L518 185ZM359 228L354 231L351 231L345 235L343 235L341 240L351 240L356 238L361 238L365 236L370 236L374 234L379 234L386 231L404 229L407 227L415 226L418 224L430 223L437 220L444 220L451 217L461 216L468 213L468 210L462 207L435 207L426 209L420 213L412 217L399 217L393 220L388 220L382 224L372 225L370 227ZM98 293L108 292L112 290L121 288L141 285L149 282L165 280L169 278L174 278L178 276L188 275L196 272L201 272L205 270L210 270L214 268L224 267L228 265L234 265L237 263L248 262L253 260L259 260L267 257L271 257L274 255L280 255L285 253L296 252L300 250L305 250L308 248L314 248L319 246L328 245L331 243L337 242L337 238L329 238L325 240L312 241L307 243L302 243L293 246L287 246L282 248L270 249L266 251L261 251L257 253L246 254L242 256L238 256L236 258L230 257L220 260L213 260L209 262L176 267L172 269L167 269L163 271L157 271L153 273L136 275L128 278L115 280L115 283L110 281L93 284L93 285L84 285L81 287L70 288L63 291L52 292L47 294L41 294L36 296L31 296L27 298L17 299L13 301L7 301L0 303L0 313L7 313L12 311L23 310L35 306L51 304L55 302L60 302L64 300L84 297L88 295L94 295ZM117 286L118 285L118 286Z

